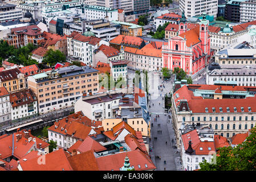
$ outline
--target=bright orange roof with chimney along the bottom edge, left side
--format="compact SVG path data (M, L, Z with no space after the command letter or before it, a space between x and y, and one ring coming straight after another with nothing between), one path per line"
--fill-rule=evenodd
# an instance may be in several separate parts
M72 171L67 156L62 148L44 155L45 164L39 164L38 158L23 161L20 163L23 171ZM43 158L42 158L43 160Z

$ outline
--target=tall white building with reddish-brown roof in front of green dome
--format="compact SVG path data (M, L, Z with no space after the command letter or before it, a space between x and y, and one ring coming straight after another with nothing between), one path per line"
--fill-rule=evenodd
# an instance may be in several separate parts
M72 32L67 36L67 52L68 56L80 57L80 61L91 66L93 63L94 50L99 47L99 38L94 36L83 36L79 32Z

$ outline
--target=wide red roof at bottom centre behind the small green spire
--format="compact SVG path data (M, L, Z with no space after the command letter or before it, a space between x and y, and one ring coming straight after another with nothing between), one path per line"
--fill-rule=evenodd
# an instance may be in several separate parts
M129 158L129 163L131 164L131 167L133 166L135 168L135 171L156 169L155 165L153 164L152 160L149 158L148 155L140 150L134 150L96 158L99 170L120 171L120 168L124 166L124 159L126 155ZM145 164L147 164L147 167Z

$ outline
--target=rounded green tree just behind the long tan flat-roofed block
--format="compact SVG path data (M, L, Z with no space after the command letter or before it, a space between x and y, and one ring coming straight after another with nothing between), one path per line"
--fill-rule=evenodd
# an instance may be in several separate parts
M47 63L54 66L58 62L62 63L64 61L66 61L66 56L62 52L59 50L54 51L50 49L46 52L46 55L44 55L42 63Z

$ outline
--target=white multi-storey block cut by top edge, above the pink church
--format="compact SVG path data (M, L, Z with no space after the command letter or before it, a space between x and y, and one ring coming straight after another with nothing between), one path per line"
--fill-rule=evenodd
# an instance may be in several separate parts
M217 0L202 0L202 1L191 1L191 0L180 0L180 10L185 11L186 17L200 16L202 14L213 15L217 17L218 13L218 1Z

